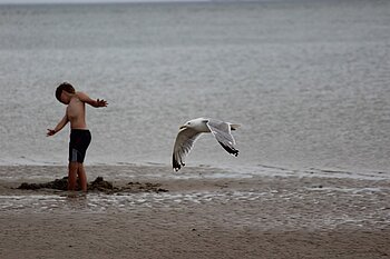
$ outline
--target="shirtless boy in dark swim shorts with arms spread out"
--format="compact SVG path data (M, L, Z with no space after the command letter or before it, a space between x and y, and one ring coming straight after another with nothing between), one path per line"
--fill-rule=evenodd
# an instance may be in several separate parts
M86 123L85 103L95 108L107 107L108 103L105 100L90 99L84 92L76 92L75 88L68 82L64 82L57 88L56 98L68 107L65 117L55 129L48 129L47 136L53 136L70 122L68 190L76 190L78 176L81 190L87 191L87 176L82 162L91 136Z

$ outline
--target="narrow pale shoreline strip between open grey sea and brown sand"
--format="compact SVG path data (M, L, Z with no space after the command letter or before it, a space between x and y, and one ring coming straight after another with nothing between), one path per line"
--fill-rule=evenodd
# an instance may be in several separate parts
M390 180L390 172L378 170L349 171L341 169L289 169L277 166L257 165L248 167L214 167L199 165L185 167L175 172L170 165L164 163L117 163L117 165L86 165L87 177L105 177L114 179L126 179L128 177L142 178L167 178L167 179L196 179L205 178L324 178L324 179L351 179L351 180ZM109 171L109 172L105 172ZM30 171L30 172L28 172ZM59 175L59 171L62 173ZM97 171L97 172L95 172ZM22 172L22 173L20 173ZM114 173L113 173L114 172ZM39 181L52 180L52 177L65 177L68 173L67 165L0 165L0 180L19 181L22 179L37 179Z

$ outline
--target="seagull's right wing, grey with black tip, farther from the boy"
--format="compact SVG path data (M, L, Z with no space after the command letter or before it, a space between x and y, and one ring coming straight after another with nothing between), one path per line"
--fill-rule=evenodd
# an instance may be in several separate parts
M218 120L208 120L206 123L218 143L231 155L237 157L238 150L234 148L235 140L231 132L231 124Z

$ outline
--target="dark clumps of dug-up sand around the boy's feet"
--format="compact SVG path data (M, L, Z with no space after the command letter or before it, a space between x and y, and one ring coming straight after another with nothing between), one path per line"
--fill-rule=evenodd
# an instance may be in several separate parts
M97 177L94 181L88 183L88 191L105 192L108 195L120 193L120 192L167 192L168 190L160 188L159 183L150 182L129 182L124 187L115 187L111 182L106 181L103 177ZM21 190L39 190L39 189L53 189L53 190L68 190L68 177L62 179L56 179L53 181L43 182L43 183L21 183L17 189ZM79 190L79 185L77 185Z

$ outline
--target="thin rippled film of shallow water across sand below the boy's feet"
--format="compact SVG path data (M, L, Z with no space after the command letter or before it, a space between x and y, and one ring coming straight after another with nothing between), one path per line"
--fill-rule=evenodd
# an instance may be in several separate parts
M215 212L236 227L262 229L333 229L340 226L386 227L390 223L389 207L383 196L390 189L368 190L266 190L266 191L201 191L184 193L129 193L119 196L88 195L77 198L50 195L0 196L3 213L150 213L174 210L181 213L201 209L203 220L213 221ZM332 205L344 199L343 205ZM334 202L334 201L333 201ZM275 203L273 210L262 210ZM306 203L311 208L308 210ZM370 205L371 203L371 205ZM240 210L228 208L238 206ZM270 215L269 215L270 213ZM189 218L191 218L189 213ZM221 216L223 215L223 216ZM133 217L135 217L133 216ZM194 217L197 217L194 215Z

